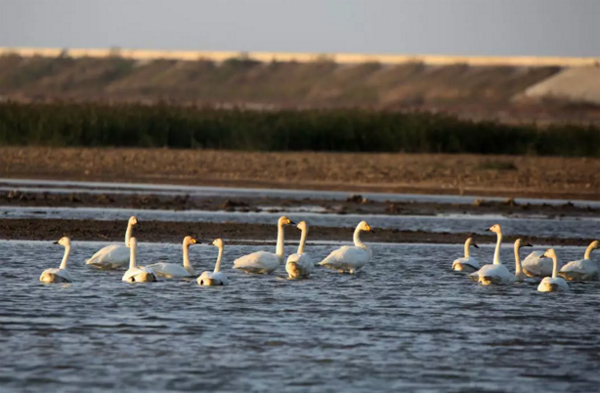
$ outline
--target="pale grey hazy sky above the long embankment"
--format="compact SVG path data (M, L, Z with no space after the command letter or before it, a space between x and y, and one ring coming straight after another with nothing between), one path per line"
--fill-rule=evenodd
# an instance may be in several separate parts
M0 46L600 57L600 0L0 0Z

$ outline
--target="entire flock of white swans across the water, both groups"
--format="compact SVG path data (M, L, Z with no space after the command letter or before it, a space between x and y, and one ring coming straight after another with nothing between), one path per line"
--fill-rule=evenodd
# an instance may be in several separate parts
M122 280L126 282L152 282L157 281L158 277L165 279L172 278L195 278L196 271L192 267L189 259L189 247L196 244L197 241L191 236L183 239L183 264L173 264L159 262L147 266L138 266L137 240L132 236L133 227L137 225L136 217L131 217L127 224L125 232L125 244L109 245L96 252L86 264L100 269L119 269L128 266ZM252 254L244 255L236 259L233 268L246 273L270 274L277 270L284 261L284 227L287 225L296 225L289 218L282 216L277 222L277 245L275 253L267 251L257 251ZM297 224L301 231L298 251L290 255L285 263L285 270L290 279L308 278L313 273L315 264L310 256L305 252L306 237L308 235L308 224L301 221ZM508 285L515 282L526 280L540 280L538 291L555 292L568 291L567 281L592 281L598 280L600 272L595 262L590 260L592 250L599 248L600 242L594 240L587 247L583 259L572 261L558 269L558 258L553 248L545 252L534 251L530 253L521 262L519 250L522 247L531 247L531 244L523 243L517 239L514 244L515 252L515 273L511 273L506 266L500 262L500 246L502 243L502 229L500 225L494 225L490 229L496 233L497 241L494 251L493 263L480 267L479 261L470 255L470 248L476 247L472 238L465 242L464 258L456 259L452 263L452 269L469 273L471 280L483 285ZM369 224L361 221L354 231L354 246L343 246L332 251L325 259L317 263L340 273L354 274L364 267L371 259L372 251L360 239L363 231L373 232ZM73 279L67 270L67 260L71 250L71 241L68 237L63 237L55 242L65 247L65 253L58 269L46 269L40 276L40 281L44 283L72 282ZM223 240L216 239L212 245L219 249L215 269L205 271L197 277L199 285L227 285L228 278L221 272L221 261L223 259ZM560 276L560 277L559 277Z

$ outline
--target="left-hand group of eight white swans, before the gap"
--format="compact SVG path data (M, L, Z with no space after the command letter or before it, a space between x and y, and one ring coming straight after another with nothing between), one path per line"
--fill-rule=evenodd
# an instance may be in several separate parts
M131 217L125 231L125 244L114 244L106 246L96 252L86 264L100 269L119 269L128 266L123 274L123 281L126 282L153 282L159 277L165 279L171 278L193 278L197 276L189 259L189 247L196 244L197 241L191 236L183 239L183 265L159 262L147 266L138 266L137 240L132 236L133 227L137 225L136 217ZM246 273L269 274L274 272L284 260L284 227L287 225L296 225L289 218L282 216L277 221L277 246L275 253L267 251L257 251L252 254L244 255L236 259L233 268ZM310 256L304 252L306 237L308 235L308 224L301 221L297 228L302 231L298 251L290 255L286 261L285 269L290 279L308 278L314 270L314 263ZM371 227L365 221L361 221L354 231L354 246L344 246L334 250L327 258L319 262L318 265L328 267L341 273L354 274L360 270L370 259L371 250L360 240L362 231L371 231ZM44 283L64 283L72 282L73 279L67 270L67 260L71 251L71 240L63 237L55 244L65 247L65 253L58 269L46 269L40 276L40 281ZM227 285L228 278L221 272L221 261L223 259L223 240L216 239L212 245L219 249L217 262L214 271L205 271L197 278L199 285Z

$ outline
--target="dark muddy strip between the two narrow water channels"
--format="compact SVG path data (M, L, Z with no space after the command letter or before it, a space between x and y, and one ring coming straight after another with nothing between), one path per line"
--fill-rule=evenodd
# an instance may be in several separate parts
M285 212L313 211L323 214L387 214L387 215L436 215L436 214L503 214L541 215L548 218L597 217L600 209L577 207L571 203L561 205L518 204L512 198L502 202L478 199L472 204L451 204L434 202L390 202L373 201L360 194L348 194L346 200L292 199L273 197L194 197L190 195L153 195L118 193L48 193L0 192L2 206L28 207L99 207L132 208L150 210L205 210L230 212Z

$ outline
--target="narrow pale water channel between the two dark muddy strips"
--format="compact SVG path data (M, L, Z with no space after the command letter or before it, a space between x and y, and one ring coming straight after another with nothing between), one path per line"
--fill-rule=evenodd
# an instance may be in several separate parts
M135 215L141 221L180 222L232 222L252 224L275 224L282 215L292 220L306 220L310 225L354 228L366 220L373 228L399 229L402 231L449 232L485 234L494 224L501 224L505 234L520 236L589 238L597 233L600 219L597 217L541 218L536 216L505 217L502 215L453 214L440 216L408 216L383 214L321 214L310 211L280 211L276 213L241 213L201 210L148 210L127 208L72 208L72 207L13 207L0 206L2 218L75 219L75 220L124 220ZM488 232L489 234L489 232Z

